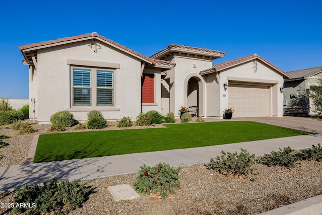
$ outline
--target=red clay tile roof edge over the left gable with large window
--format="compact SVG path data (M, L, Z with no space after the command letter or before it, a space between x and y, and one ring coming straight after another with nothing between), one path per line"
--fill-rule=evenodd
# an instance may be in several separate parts
M42 48L43 46L46 46L46 45L51 45L51 44L56 44L56 45L59 45L60 42L68 42L68 41L73 41L73 40L78 40L78 39L82 39L82 38L88 38L88 37L98 37L104 41L107 41L109 43L112 43L113 45L115 46L118 46L119 48L123 49L123 50L126 50L127 52L130 52L134 55L137 55L138 57L141 57L147 61L149 61L150 63L152 64L163 64L163 65L170 65L170 66L174 66L175 63L172 63L172 62L169 62L169 61L161 61L161 60L154 60L152 58L149 58L149 57L146 57L136 51L133 51L132 49L130 48L127 48L126 46L124 45L121 45L117 42L114 42L113 40L110 40L104 36L101 36L99 35L98 33L96 32L93 32L91 34L82 34L82 35L77 35L77 36L71 36L71 37L65 37L65 38L59 38L59 39L56 39L56 40L49 40L49 41L45 41L45 42L39 42L39 43L32 43L32 44L28 44L28 45L22 45L22 46L19 46L19 49L23 52L25 49L29 49L29 48Z

